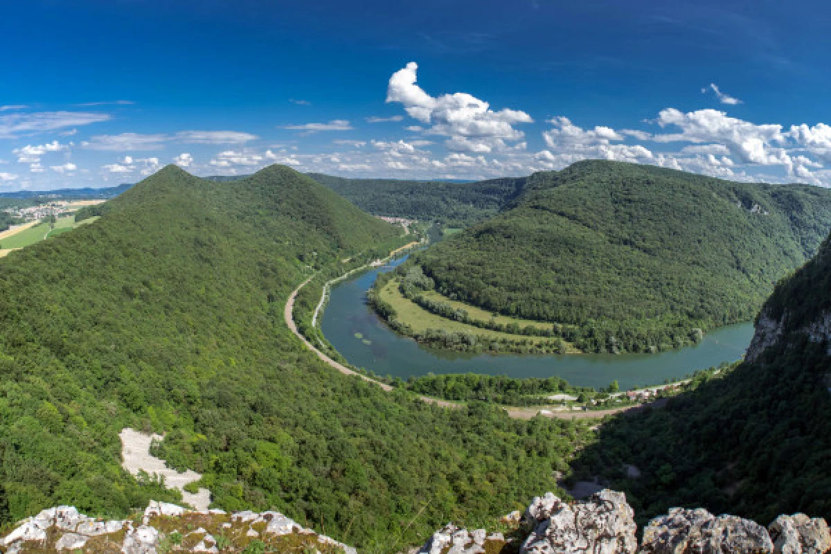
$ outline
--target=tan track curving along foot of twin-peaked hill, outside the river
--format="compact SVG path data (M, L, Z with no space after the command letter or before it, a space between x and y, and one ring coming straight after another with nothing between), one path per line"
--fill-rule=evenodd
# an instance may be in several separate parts
M294 301L297 299L297 293L300 292L302 287L305 287L309 281L312 280L314 276L309 277L306 281L300 283L296 289L293 290L290 297L288 297L288 302L286 302L286 307L283 310L283 317L286 320L286 325L288 328L292 330L295 336L300 339L306 347L314 352L318 358L326 362L330 367L340 371L343 375L356 375L360 377L362 380L365 380L367 383L371 383L373 385L378 385L381 389L390 392L393 390L393 387L387 385L386 383L381 383L379 380L372 379L371 377L367 377L366 375L362 375L355 370L349 369L346 365L337 362L336 360L332 360L329 356L324 354L322 351L319 351L316 346L312 345L311 342L307 341L305 336L302 336L300 331L297 330L297 325L294 323ZM442 408L463 408L465 404L457 404L455 402L449 402L448 400L440 400L437 398L432 398L430 396L420 395L419 398L424 402L429 404L435 404L437 406L441 406ZM568 411L568 412L556 412L556 411L548 411L546 410L543 412L543 415L552 418L552 419L597 419L602 418L607 415L611 414L619 414L621 412L625 412L631 409L640 409L642 406L627 406L621 408L612 408L612 409L602 409L602 410L588 410L588 411ZM540 408L514 408L514 407L506 407L505 411L508 412L508 415L514 419L531 419L534 415L540 413Z

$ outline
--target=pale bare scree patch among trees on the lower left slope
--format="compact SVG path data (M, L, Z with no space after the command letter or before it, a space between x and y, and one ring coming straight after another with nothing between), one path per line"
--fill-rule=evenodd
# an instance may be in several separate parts
M208 509L210 504L210 491L207 488L200 488L199 493L188 493L184 485L198 481L202 476L189 469L179 473L175 469L165 466L165 460L156 458L150 454L150 443L153 439L161 440L160 434L143 434L135 429L121 429L118 435L121 438L121 465L133 475L144 469L146 473L160 475L165 478L167 488L178 488L182 492L182 499L199 511Z

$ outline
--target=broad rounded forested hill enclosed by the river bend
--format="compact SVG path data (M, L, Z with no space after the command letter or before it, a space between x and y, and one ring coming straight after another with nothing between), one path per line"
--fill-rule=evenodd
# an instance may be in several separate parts
M750 320L829 228L827 189L585 161L532 175L418 261L450 297L575 324L584 349L645 351Z

